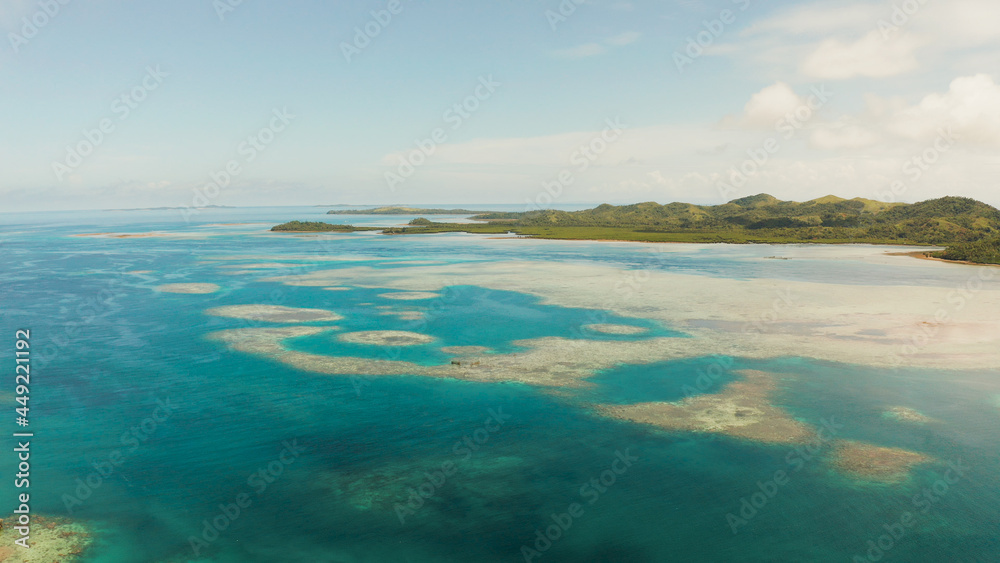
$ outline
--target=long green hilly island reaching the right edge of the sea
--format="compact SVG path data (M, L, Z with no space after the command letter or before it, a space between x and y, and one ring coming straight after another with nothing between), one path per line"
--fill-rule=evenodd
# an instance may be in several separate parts
M435 214L432 211L475 213L391 207L367 210L365 214ZM759 194L711 206L654 202L604 204L583 211L484 212L475 213L472 218L480 222L436 223L420 217L407 227L379 230L388 235L514 233L532 238L636 242L933 245L947 249L926 253L927 257L1000 264L1000 210L964 197L906 204L836 196L795 202ZM274 230L291 229L275 227ZM315 230L338 229L320 226Z

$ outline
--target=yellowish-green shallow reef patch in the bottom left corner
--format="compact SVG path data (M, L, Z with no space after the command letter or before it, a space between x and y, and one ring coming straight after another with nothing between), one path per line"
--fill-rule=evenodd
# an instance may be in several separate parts
M59 517L32 516L30 548L14 545L14 518L3 519L0 561L4 563L69 563L93 542L85 526Z

